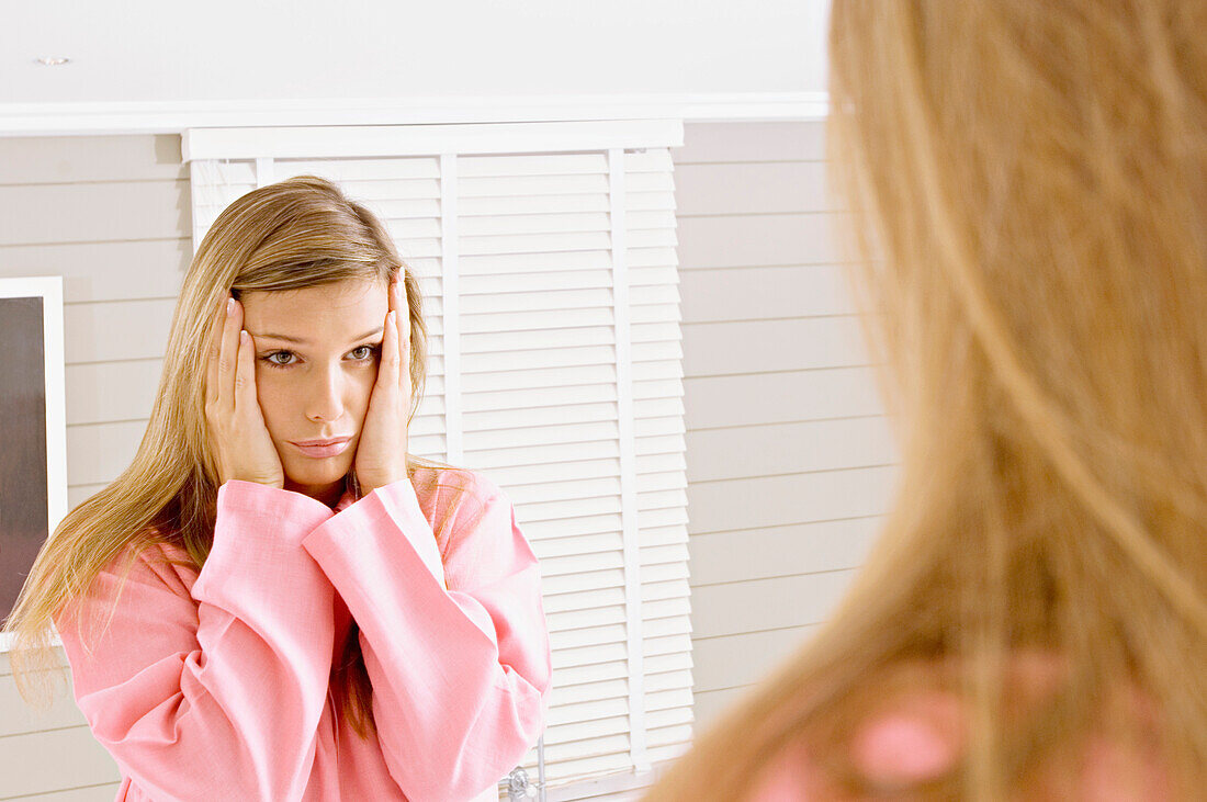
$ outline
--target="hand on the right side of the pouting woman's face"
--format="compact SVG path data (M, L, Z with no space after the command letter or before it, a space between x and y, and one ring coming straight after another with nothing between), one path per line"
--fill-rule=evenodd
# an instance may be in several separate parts
M378 377L356 446L361 494L407 478L407 412L410 410L410 306L402 271L390 283L390 311L381 334Z

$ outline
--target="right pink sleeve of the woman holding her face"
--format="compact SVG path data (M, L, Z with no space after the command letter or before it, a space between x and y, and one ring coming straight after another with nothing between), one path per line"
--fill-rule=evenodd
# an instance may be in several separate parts
M409 479L302 543L361 627L383 756L414 800L494 786L544 725L552 666L540 567L511 500L477 481L443 564Z

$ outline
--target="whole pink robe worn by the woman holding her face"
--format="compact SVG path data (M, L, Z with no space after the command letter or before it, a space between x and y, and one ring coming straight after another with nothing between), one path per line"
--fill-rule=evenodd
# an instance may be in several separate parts
M549 638L511 500L457 476L451 511L453 487L419 498L408 479L336 509L228 481L200 573L147 560L187 558L173 545L145 551L91 655L76 619L57 621L76 702L121 768L117 800L497 798L544 726ZM89 610L107 611L115 566ZM368 740L330 691L352 619Z

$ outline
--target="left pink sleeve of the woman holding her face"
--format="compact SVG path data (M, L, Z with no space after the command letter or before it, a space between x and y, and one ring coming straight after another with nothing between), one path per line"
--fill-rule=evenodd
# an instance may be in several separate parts
M301 542L332 515L301 493L228 481L191 592L144 554L91 655L75 624L104 625L112 563L58 625L80 710L144 795L302 797L327 701L334 590Z

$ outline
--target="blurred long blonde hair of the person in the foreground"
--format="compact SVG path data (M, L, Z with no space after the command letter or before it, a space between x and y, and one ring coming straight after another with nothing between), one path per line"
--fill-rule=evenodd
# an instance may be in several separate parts
M797 748L870 794L853 732L940 665L910 675L968 740L917 796L1033 796L1097 733L1139 743L1119 687L1202 792L1205 30L1199 0L834 1L827 141L898 485L830 620L646 800L742 798ZM1060 679L1020 707L1033 650Z

